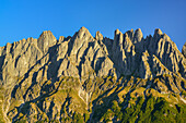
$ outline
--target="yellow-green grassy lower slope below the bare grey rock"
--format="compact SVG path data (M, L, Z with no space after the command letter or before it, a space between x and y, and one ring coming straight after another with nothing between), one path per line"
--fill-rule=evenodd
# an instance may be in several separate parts
M171 91L161 94L153 86L148 89L148 79L130 77L123 83L116 83L108 76L84 84L86 91L92 90L89 106L78 95L80 83L71 77L65 77L55 83L58 89L51 90L34 103L27 102L33 107L20 112L18 122L26 121L25 111L31 109L39 111L37 113L44 116L44 121L59 122L55 119L49 120L49 114L43 111L40 102L48 102L48 100L60 106L60 112L56 111L56 115L60 116L61 122L88 122L89 119L95 122L119 121L125 123L136 121L184 123L186 121L186 106L177 100L178 94ZM69 112L68 109L71 111ZM34 119L37 120L37 116ZM40 120L40 122L44 121Z

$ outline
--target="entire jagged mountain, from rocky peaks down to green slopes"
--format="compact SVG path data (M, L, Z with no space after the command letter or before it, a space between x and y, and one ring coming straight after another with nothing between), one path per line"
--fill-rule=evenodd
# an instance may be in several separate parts
M0 122L186 122L186 45L82 27L0 47Z

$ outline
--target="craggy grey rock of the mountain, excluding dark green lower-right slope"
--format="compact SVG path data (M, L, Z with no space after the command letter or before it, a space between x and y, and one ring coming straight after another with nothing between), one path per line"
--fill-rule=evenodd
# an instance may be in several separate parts
M186 90L185 56L186 46L181 53L160 29L147 38L140 28L125 34L116 29L113 40L100 32L93 37L81 27L72 37L58 40L47 30L38 39L7 44L0 47L3 119L62 122L79 112L97 121L90 110L104 101L98 96L116 91L115 87L182 94Z

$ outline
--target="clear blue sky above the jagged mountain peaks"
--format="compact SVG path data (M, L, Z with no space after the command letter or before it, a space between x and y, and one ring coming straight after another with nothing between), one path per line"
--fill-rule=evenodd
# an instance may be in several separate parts
M186 41L186 0L0 0L0 46L38 38L43 30L72 36L85 26L113 38L141 28L144 36L161 28L178 49Z

